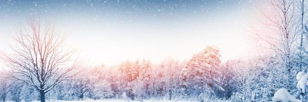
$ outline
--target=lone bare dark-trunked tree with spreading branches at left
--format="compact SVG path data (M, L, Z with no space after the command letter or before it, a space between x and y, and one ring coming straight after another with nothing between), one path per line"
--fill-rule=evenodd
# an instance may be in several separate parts
M56 36L55 25L42 24L38 19L31 19L27 26L17 29L13 54L1 58L11 69L8 78L33 86L44 102L45 93L73 78L80 66L73 59L74 50L67 49L64 39Z

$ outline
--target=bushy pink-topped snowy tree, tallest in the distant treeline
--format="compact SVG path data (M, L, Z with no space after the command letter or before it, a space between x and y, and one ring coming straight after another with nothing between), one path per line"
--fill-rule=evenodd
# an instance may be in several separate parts
M219 80L220 57L219 49L215 46L207 46L203 52L193 55L187 62L186 69L182 70L188 94L198 96L203 93L210 97L214 95L214 89L222 89Z

